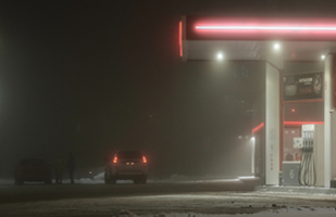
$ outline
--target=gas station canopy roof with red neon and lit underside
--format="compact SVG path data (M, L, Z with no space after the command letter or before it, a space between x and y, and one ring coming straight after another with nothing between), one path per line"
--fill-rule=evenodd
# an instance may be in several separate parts
M247 18L185 16L184 61L319 61L336 48L336 18Z

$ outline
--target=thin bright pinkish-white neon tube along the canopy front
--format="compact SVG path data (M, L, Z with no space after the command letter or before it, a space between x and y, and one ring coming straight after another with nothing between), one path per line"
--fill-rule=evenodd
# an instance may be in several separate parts
M312 30L336 31L336 27L302 27L302 26L196 26L196 29L210 30Z

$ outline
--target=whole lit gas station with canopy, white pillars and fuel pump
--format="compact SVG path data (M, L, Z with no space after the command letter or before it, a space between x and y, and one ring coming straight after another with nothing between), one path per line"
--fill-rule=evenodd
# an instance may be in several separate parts
M263 63L251 174L265 186L336 188L336 18L186 15L179 55Z

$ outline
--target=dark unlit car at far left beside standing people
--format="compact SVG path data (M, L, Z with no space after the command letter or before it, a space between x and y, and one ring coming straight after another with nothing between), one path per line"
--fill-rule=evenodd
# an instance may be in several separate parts
M25 181L51 183L52 170L48 161L42 158L25 158L15 169L15 183Z

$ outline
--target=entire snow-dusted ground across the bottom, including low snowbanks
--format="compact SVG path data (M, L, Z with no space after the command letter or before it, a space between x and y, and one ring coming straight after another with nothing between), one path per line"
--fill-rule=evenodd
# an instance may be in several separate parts
M256 183L249 178L192 180L176 175L148 184L110 186L97 176L76 182L0 184L0 216L336 216L335 194L252 191Z

